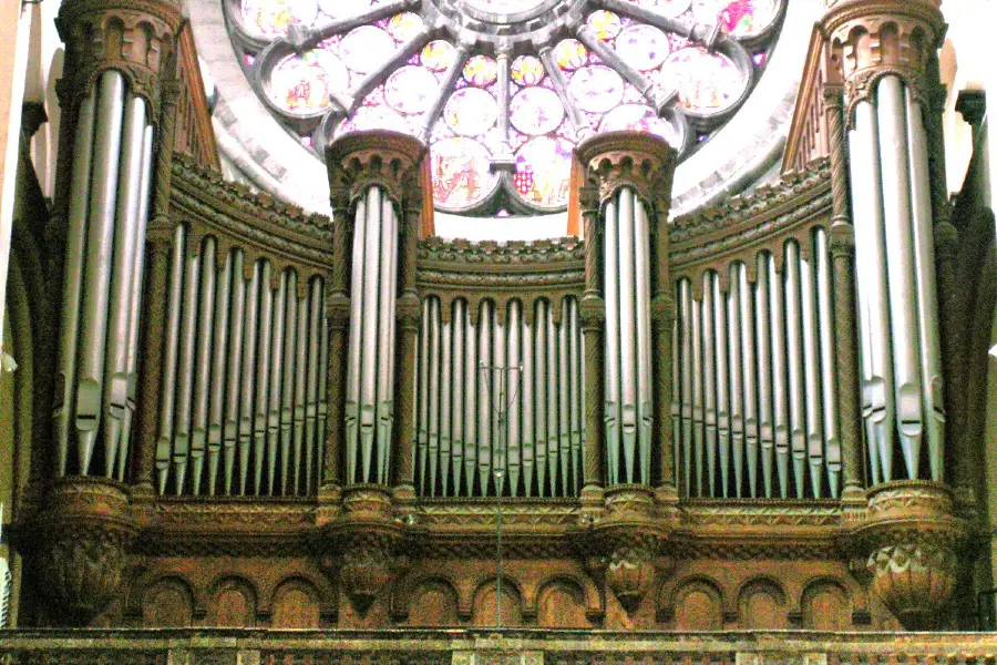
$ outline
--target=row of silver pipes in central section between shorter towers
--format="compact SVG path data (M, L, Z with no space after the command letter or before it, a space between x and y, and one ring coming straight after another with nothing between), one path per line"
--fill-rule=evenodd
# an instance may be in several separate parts
M423 497L575 497L584 385L578 303L423 301L415 461ZM527 308L524 310L524 307ZM504 473L495 474L496 470Z

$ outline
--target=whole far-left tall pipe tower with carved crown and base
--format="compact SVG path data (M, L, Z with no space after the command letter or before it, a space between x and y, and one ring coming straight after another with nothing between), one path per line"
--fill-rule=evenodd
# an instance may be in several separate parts
M173 0L69 0L56 21L66 43L60 102L71 127L56 184L63 228L52 234L65 242L53 275L62 284L52 411L58 480L32 544L48 616L66 625L86 625L117 594L137 530L123 481L148 471L135 403L145 379L138 372L150 362L138 360L143 273L147 229L168 204L175 95L167 82L183 20ZM155 250L148 260L163 273ZM155 290L146 296L155 298Z

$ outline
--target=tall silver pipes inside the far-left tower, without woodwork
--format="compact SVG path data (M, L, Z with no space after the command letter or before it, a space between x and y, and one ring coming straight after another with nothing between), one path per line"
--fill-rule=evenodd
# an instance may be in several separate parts
M53 412L60 475L125 479L152 171L146 102L109 70L76 115Z

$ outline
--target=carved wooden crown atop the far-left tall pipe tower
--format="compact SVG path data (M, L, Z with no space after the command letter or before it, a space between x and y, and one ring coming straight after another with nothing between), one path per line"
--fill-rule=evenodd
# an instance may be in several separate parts
M133 94L145 99L155 122L161 80L172 78L168 70L184 21L181 0L66 0L55 19L70 58L60 100L88 94L113 69Z

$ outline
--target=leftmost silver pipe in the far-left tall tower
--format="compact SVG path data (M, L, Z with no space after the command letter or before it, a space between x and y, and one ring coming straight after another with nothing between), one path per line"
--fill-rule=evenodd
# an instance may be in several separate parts
M59 475L65 475L69 463L69 428L76 396L76 342L80 335L80 307L83 299L83 257L86 254L86 216L90 209L90 170L93 165L93 130L96 84L80 104L73 141L73 182L65 244L65 280L63 282L62 326L59 336L59 374L56 375L55 440L59 449Z

